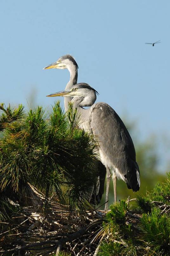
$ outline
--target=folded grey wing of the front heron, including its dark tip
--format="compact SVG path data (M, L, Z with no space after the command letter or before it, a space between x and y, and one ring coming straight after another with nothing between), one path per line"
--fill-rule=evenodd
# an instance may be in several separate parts
M139 167L134 144L121 118L107 103L100 102L91 108L90 121L93 134L98 138L102 157L105 156L105 160L101 161L106 166L104 161L108 160L117 168L128 188L139 190L140 181L136 177Z

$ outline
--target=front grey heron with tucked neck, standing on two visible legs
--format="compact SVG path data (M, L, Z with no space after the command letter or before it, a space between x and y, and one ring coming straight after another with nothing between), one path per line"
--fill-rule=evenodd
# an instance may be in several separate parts
M107 169L106 204L108 210L108 191L112 175L114 201L116 201L116 178L126 182L129 189L140 188L140 172L136 153L130 134L118 114L104 102L95 103L97 91L86 83L78 83L71 89L56 92L47 97L72 97L71 102L82 115L84 122L80 127L91 130L97 137L98 154ZM89 107L84 109L84 107Z

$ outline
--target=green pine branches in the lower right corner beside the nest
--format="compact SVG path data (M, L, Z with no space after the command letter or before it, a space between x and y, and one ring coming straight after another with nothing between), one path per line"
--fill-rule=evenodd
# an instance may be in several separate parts
M159 201L158 201L159 200ZM110 206L103 222L105 234L97 255L160 255L170 252L170 173L136 205L121 200Z

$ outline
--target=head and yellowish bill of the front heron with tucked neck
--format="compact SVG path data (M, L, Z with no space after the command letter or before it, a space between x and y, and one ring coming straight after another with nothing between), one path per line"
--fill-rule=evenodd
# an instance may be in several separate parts
M71 89L52 93L50 95L47 95L47 97L72 97L73 102L77 101L79 98L79 100L81 99L81 102L83 102L81 106L91 106L95 103L96 94L98 95L98 92L91 86L89 86L87 83L77 83L74 86L72 86Z

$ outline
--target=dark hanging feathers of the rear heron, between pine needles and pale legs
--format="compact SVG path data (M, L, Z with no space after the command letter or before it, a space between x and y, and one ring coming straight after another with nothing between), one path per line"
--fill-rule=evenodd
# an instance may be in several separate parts
M99 192L96 195L96 187L93 190L93 194L90 200L91 204L99 204L101 201L101 197L104 193L104 182L106 177L106 167L101 163L101 161L97 161L98 175L99 175Z

